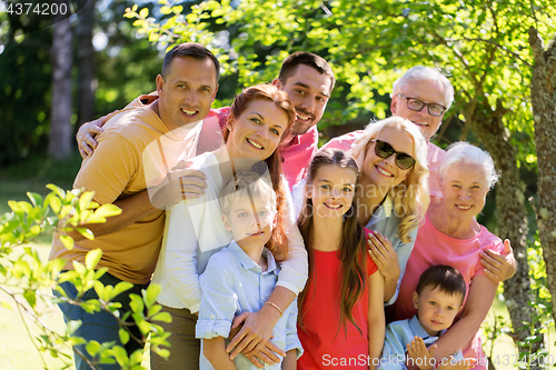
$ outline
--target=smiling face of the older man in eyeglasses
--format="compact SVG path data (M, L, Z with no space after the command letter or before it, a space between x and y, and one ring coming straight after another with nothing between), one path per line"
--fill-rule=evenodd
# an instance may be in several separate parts
M400 94L407 98L416 98L426 103L437 103L445 106L445 87L438 80L418 79L407 82L401 87ZM407 99L395 96L391 98L390 110L394 116L405 118L417 124L425 139L430 138L436 133L443 122L444 113L440 117L435 117L428 113L427 106L424 106L420 111L414 111L407 108Z

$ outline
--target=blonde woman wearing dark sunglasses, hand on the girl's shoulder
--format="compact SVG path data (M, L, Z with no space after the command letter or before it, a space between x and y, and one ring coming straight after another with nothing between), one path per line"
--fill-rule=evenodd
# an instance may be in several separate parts
M349 143L332 139L325 148ZM411 121L390 117L369 123L349 150L361 169L357 219L375 232L369 253L385 278L384 300L391 304L429 203L427 142Z

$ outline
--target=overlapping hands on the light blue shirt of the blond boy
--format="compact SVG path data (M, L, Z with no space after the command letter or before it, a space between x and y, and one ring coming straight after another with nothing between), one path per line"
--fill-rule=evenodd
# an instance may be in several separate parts
M257 358L266 363L280 363L277 353L285 357L286 352L270 341L279 316L276 314L274 318L266 312L272 311L261 309L258 312L242 312L234 319L232 329L241 323L244 327L226 348L231 360L244 353L258 368L262 367Z

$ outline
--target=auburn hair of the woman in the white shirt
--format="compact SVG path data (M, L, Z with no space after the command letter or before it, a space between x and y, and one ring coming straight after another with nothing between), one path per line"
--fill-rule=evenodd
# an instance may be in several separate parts
M288 117L288 126L281 134L278 148L282 143L284 139L288 136L291 124L296 118L296 109L286 92L278 90L274 84L257 84L250 88L244 89L239 96L234 99L231 104L230 116L228 117L228 124L222 133L224 142L228 141L230 136L229 130L234 127L234 120L241 116L249 104L255 100L266 100L274 102L278 108L284 110ZM277 197L277 214L276 214L276 227L272 230L272 237L267 243L267 247L275 254L277 261L282 261L287 257L288 252L288 238L286 237L286 231L284 229L284 218L287 214L286 210L286 186L281 181L281 156L278 153L278 148L272 152L272 154L265 159L267 163L268 171L270 173L270 181L272 182L272 189ZM256 172L256 169L254 169ZM260 174L260 173L259 173ZM277 248L280 246L280 248Z

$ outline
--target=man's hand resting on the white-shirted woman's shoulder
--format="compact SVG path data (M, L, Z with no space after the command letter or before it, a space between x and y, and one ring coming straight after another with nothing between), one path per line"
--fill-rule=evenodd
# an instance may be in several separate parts
M181 161L166 176L160 186L149 189L152 206L168 209L185 199L197 199L205 193L207 176L191 169L191 161Z

